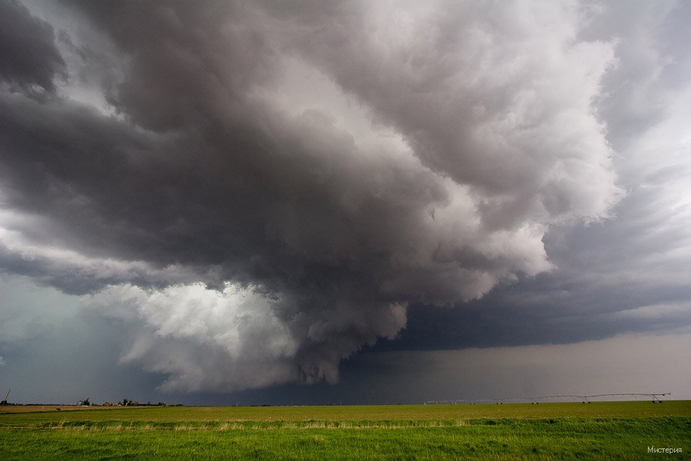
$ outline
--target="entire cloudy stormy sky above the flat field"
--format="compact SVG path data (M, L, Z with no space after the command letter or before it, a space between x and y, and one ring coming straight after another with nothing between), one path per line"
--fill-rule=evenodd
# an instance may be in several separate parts
M0 0L0 391L691 399L690 22Z

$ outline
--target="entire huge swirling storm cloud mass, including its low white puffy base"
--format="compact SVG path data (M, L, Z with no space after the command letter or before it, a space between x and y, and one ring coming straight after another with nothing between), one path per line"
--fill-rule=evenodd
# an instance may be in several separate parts
M123 323L163 389L335 382L622 196L615 44L571 1L62 8L0 1L0 266Z

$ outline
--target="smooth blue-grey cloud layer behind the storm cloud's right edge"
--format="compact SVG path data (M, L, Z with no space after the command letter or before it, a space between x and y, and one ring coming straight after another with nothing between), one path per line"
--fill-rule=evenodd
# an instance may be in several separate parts
M556 269L499 286L463 309L412 307L409 328L386 347L554 344L676 331L691 323L686 128L691 92L681 77L691 53L670 41L686 33L678 17L688 17L688 10L665 2L653 8L655 14L648 6L625 13L617 5L605 6L606 14L587 33L599 28L597 34L619 37L617 67L603 79L608 96L598 104L617 149L619 181L627 189L612 208L613 218L551 227L543 241ZM633 17L623 20L628 15ZM642 51L641 37L647 37Z

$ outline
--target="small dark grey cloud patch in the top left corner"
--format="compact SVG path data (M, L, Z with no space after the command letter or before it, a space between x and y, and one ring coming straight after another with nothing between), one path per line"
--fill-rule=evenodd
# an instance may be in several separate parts
M55 48L53 27L14 0L0 1L0 80L33 91L53 92L65 61Z

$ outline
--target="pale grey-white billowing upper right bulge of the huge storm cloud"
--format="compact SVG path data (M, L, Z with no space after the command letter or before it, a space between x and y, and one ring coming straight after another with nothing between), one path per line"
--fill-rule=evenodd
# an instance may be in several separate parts
M577 39L589 18L575 2L359 8L283 32L425 166L469 186L485 225L596 219L616 203L594 106L615 43Z

